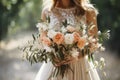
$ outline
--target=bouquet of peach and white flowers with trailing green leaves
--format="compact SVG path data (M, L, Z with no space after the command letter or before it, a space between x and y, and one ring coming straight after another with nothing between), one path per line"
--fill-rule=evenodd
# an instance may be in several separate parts
M73 27L65 21L59 30L55 30L49 22L41 21L36 25L39 34L32 35L33 40L22 50L31 63L52 62L55 67L52 76L63 77L66 71L72 71L70 63L86 55L89 60L93 60L94 52L105 50L102 41L109 38L109 31L98 31L98 36L94 37L88 33L94 25L78 23Z

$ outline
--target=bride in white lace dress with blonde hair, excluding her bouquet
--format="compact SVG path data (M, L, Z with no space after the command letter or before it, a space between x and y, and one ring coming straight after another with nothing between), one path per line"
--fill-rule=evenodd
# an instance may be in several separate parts
M41 18L46 20L50 17L50 25L54 29L59 30L61 23L65 20L75 26L76 23L95 25L92 30L89 30L89 35L97 37L97 10L90 4L89 0L44 0L48 4L45 5ZM43 2L44 2L43 1ZM52 4L52 6L49 6ZM48 6L48 7L47 7ZM99 75L91 61L88 61L88 56L82 56L78 61L70 63L70 71L62 78L61 76L50 77L54 66L51 62L43 63L35 80L100 80Z

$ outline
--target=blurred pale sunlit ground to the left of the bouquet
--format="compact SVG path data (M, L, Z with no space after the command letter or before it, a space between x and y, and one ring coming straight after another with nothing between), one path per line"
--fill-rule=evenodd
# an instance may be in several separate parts
M33 80L40 68L39 64L31 64L22 58L19 46L24 46L32 39L33 31L26 31L11 36L1 42L0 79L1 80ZM7 77L6 77L7 76Z

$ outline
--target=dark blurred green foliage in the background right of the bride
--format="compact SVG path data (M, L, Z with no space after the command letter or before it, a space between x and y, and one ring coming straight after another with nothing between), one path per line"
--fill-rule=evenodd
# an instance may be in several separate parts
M100 30L110 29L109 47L120 52L120 0L91 0L99 10L98 26Z

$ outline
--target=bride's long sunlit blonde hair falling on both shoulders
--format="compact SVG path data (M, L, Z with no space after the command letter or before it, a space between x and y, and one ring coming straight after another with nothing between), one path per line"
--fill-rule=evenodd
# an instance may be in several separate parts
M55 8L58 0L43 0L43 8L52 10ZM85 11L95 11L98 14L97 9L90 3L89 0L73 0L77 7L77 14L84 14Z

